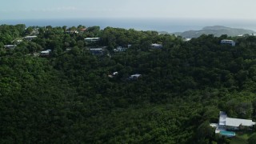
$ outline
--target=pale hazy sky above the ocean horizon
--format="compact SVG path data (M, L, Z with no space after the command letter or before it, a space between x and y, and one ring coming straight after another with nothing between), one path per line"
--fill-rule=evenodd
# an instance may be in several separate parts
M255 0L1 0L0 21L43 18L256 19Z

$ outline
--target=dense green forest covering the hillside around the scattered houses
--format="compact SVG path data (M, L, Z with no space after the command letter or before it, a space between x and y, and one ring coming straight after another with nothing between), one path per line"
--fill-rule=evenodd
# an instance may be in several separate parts
M229 143L209 126L220 110L256 121L256 37L186 42L156 31L84 28L0 26L0 143ZM237 45L221 45L225 38ZM108 54L90 54L101 46ZM49 49L50 57L34 56Z

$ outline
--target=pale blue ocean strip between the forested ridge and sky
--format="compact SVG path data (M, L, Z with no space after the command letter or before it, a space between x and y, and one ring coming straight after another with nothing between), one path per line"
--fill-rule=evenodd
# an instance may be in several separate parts
M256 31L256 20L193 19L193 18L67 18L1 20L0 24L26 26L100 26L101 29L119 27L134 30L156 30L169 33L201 30L205 26L227 26Z

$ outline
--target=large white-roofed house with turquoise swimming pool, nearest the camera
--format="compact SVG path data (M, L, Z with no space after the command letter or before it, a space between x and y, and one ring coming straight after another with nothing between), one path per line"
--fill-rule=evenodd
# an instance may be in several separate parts
M234 137L235 133L229 130L240 130L241 127L251 128L256 123L250 119L229 118L223 111L219 112L218 123L211 123L210 126L215 128L216 134L222 134L226 137Z

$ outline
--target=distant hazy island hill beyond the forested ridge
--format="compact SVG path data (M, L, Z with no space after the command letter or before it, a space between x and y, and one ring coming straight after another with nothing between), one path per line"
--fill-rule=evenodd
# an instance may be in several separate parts
M161 34L166 34L165 31L159 32ZM222 34L227 34L228 36L238 36L243 34L254 34L254 30L245 30L238 28L230 28L226 26L206 26L203 27L202 30L188 30L184 32L176 32L172 33L175 35L182 36L183 38L198 38L202 34L214 34L214 36L219 37Z

